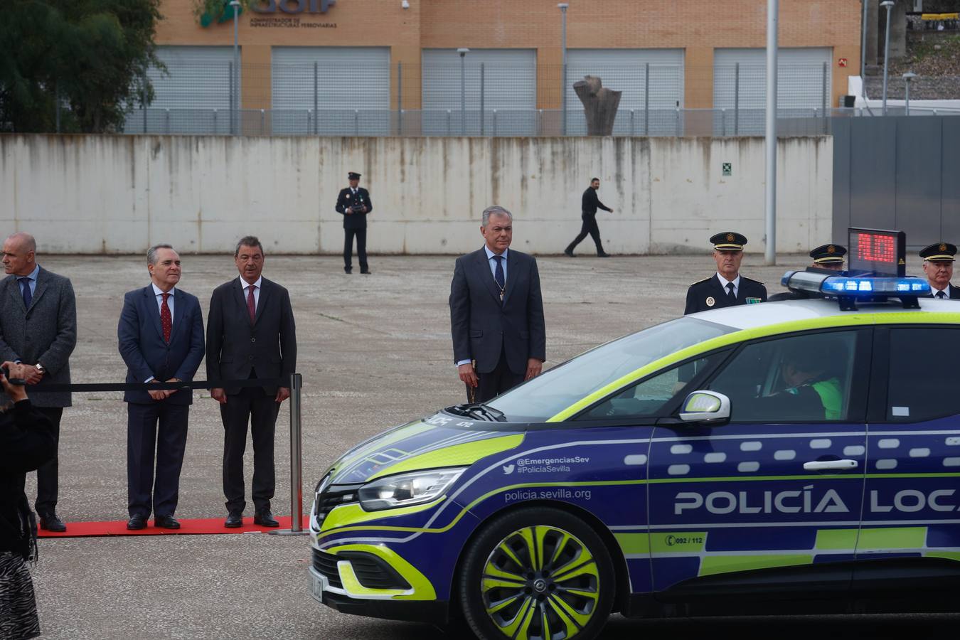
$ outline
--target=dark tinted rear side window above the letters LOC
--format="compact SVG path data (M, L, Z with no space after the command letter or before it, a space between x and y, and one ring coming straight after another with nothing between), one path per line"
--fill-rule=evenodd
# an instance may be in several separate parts
M920 422L960 414L960 328L890 330L887 419Z

